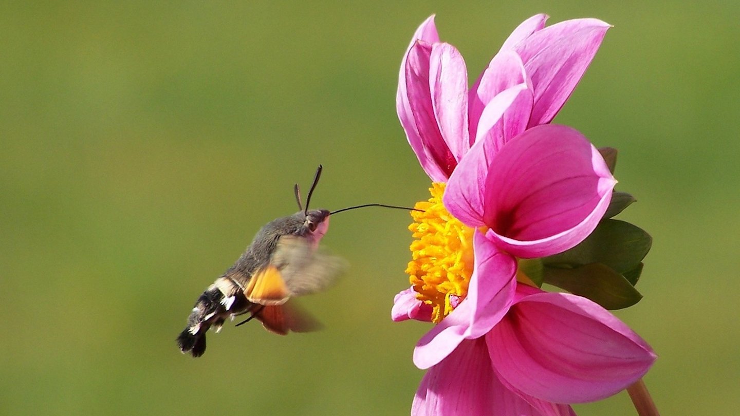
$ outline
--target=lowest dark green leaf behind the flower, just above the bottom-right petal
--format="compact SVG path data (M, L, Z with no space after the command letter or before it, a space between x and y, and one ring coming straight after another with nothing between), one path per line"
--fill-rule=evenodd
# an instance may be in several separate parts
M626 308L642 299L640 292L624 276L600 263L575 269L545 266L545 282L591 299L606 309Z

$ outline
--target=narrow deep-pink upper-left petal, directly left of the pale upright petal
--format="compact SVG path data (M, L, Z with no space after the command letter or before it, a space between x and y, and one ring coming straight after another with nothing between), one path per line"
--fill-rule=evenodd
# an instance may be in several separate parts
M432 104L430 84L435 82L431 77L433 74L429 72L432 67L432 48L432 44L417 41L408 51L406 93L408 106L411 108L411 115L423 147L423 154L420 156L417 153L417 157L430 177L434 172L442 175L440 178L432 177L432 180L445 181L457 166L457 160L440 132Z

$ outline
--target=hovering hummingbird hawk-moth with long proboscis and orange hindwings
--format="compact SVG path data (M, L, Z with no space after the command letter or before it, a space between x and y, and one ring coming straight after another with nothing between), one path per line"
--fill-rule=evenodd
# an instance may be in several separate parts
M322 169L319 165L316 170L305 209L296 184L298 212L262 227L235 264L198 297L177 338L181 352L200 357L206 351L206 332L212 327L219 332L226 319L238 315L249 314L249 318L237 326L255 318L265 329L280 335L317 329L317 321L291 299L326 289L346 269L346 261L319 248L329 229L330 215L361 207L408 209L384 204L333 212L309 209Z

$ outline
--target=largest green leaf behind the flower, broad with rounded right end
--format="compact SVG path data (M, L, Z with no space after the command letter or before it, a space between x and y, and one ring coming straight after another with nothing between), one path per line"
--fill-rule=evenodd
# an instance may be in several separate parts
M602 263L617 273L633 271L639 266L653 239L644 230L619 220L602 220L581 244L542 259L545 266L573 269L591 263Z

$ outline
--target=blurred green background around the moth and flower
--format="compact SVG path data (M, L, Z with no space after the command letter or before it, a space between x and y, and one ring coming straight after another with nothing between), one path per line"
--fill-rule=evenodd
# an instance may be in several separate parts
M608 32L556 121L619 148L622 218L654 237L617 313L660 359L665 415L740 406L740 4L561 1L16 2L0 5L0 414L403 415L423 323L392 323L409 218L332 220L351 272L306 298L326 329L175 335L257 229L314 206L427 198L395 114L431 13L477 76L520 21ZM634 414L625 393L576 406Z

